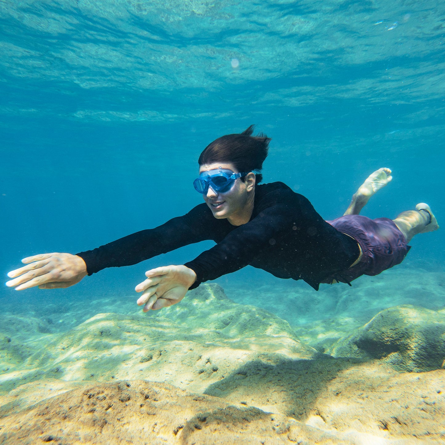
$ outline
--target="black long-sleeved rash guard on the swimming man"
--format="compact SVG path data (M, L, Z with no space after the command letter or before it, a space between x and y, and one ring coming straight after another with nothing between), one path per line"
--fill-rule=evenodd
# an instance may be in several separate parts
M272 182L255 186L251 219L241 226L214 218L202 203L159 227L77 255L91 275L206 239L217 244L185 264L197 276L190 289L251 265L278 278L303 279L318 290L324 279L347 269L360 254L356 241L326 223L307 198L283 182Z

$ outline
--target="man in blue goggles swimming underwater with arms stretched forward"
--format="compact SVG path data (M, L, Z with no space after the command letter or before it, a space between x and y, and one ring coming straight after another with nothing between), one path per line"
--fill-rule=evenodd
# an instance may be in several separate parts
M407 243L439 228L429 206L417 204L396 219L360 216L368 199L391 181L391 170L374 172L360 186L344 216L326 222L304 196L282 182L258 185L270 138L252 136L253 125L228 134L201 153L194 188L205 203L162 226L143 230L77 255L49 253L22 260L8 273L16 290L69 287L105 267L136 264L211 239L216 245L180 266L146 272L136 286L144 312L178 303L187 290L250 264L279 278L348 283L401 263Z

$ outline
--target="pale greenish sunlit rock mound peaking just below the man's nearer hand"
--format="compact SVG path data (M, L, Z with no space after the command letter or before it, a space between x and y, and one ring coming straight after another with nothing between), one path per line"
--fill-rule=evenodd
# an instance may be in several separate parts
M234 303L217 284L202 285L162 311L97 314L25 346L27 358L2 376L2 391L42 378L149 379L204 391L251 361L320 355L301 343L286 321Z

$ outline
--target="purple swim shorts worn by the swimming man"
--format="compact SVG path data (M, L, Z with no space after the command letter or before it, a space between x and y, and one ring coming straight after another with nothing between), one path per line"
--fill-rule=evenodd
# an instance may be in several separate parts
M332 279L349 283L360 275L378 275L405 258L411 246L405 236L389 218L370 219L361 215L345 215L333 221L327 221L339 232L352 236L363 251L360 263L324 280Z

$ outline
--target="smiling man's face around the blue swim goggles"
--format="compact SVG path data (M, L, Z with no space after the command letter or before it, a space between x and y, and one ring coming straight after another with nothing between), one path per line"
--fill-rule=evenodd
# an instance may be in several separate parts
M199 174L218 169L231 170L234 173L239 173L231 163L213 163L200 166ZM217 192L209 186L209 190L207 190L207 193L204 193L202 197L215 218L228 218L230 222L231 216L242 213L247 204L247 184L241 178L235 179L232 187L225 193Z

